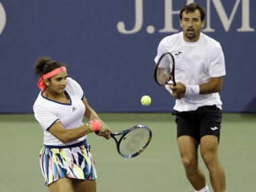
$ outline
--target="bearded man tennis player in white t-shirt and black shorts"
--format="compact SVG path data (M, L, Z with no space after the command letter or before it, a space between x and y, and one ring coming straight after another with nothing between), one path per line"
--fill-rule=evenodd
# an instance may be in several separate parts
M219 42L201 32L205 11L195 3L180 12L183 32L164 38L158 46L157 61L164 52L175 60L177 86L166 85L176 99L177 142L187 179L196 191L207 192L205 175L198 166L201 157L210 173L215 192L226 191L225 173L218 159L222 101L218 92L226 75Z

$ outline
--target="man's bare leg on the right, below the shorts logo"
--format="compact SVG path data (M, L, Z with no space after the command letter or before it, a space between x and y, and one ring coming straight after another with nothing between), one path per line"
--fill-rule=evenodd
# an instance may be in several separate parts
M203 136L200 142L201 156L210 173L210 181L214 192L226 191L224 169L218 160L218 138Z

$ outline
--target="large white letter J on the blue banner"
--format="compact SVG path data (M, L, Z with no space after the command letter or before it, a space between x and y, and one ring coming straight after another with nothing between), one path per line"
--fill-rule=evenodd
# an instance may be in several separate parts
M121 34L135 34L141 30L143 24L143 0L135 0L135 26L133 30L125 30L125 23L119 21L117 23L117 30Z

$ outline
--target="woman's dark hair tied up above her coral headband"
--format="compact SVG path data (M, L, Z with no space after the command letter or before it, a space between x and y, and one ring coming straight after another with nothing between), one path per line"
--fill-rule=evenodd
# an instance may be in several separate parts
M52 70L55 70L56 68L60 68L61 66L67 67L66 64L63 64L56 60L51 60L49 56L40 56L36 60L34 70L35 70L36 76L41 77L42 75L45 75L46 73L49 73Z

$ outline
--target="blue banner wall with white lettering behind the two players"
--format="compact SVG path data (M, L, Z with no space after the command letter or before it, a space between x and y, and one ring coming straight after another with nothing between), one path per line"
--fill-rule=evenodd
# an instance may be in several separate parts
M69 66L98 112L167 112L174 99L154 82L162 38L181 32L179 10L193 0L0 1L0 113L30 113L39 93L34 64ZM256 1L199 0L203 33L220 42L223 111L256 112ZM152 105L143 107L143 95Z

